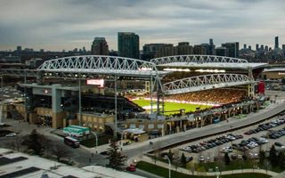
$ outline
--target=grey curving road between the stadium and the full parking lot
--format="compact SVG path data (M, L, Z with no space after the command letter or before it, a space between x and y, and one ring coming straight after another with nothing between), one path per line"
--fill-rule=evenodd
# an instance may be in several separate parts
M191 139L196 139L199 137L205 137L211 134L219 134L222 132L227 132L232 129L238 129L244 125L251 125L260 120L266 119L268 117L273 117L277 113L280 113L285 109L285 102L279 103L277 106L272 106L273 108L262 109L257 113L249 114L248 117L243 118L241 120L237 120L235 122L230 121L229 123L223 123L218 125L208 125L202 128L195 128L183 133L178 134L170 134L164 137L159 137L156 139L152 139L151 145L149 142L140 142L135 143L134 145L126 146L123 152L127 155L128 158L133 158L137 155L149 152L151 150L157 150L159 148L165 148L175 143L186 142Z

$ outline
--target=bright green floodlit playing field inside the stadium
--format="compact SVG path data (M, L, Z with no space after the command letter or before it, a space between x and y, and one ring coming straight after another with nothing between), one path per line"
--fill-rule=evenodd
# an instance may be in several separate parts
M141 107L151 106L151 101L148 101L148 100L134 100L133 102ZM171 112L166 112L166 115L179 113L180 109L185 109L185 112L190 112L190 111L195 111L196 108L200 108L200 109L212 108L211 106L205 106L205 105L199 105L199 104L176 103L176 102L169 102L169 101L165 101L164 104L165 104L164 106L165 111L171 111ZM153 103L153 109L156 110L155 108L156 108L156 103ZM175 111L172 111L172 110L175 110Z

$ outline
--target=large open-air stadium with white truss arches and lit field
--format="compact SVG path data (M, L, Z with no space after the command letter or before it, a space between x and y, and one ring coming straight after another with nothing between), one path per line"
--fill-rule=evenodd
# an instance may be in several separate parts
M65 57L37 70L1 69L2 76L25 77L19 89L26 96L2 109L5 117L53 128L171 134L262 109L268 98L256 78L266 65L209 55Z

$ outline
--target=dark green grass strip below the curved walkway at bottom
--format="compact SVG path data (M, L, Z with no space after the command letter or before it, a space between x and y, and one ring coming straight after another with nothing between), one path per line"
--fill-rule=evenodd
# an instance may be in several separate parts
M144 161L139 161L137 163L137 168L147 171L152 174L157 174L162 177L168 177L168 169L160 166L156 166ZM181 174L175 171L171 171L172 178L216 178L216 176L198 176L198 175L189 175L189 174ZM266 174L229 174L219 176L220 178L268 178L269 175Z

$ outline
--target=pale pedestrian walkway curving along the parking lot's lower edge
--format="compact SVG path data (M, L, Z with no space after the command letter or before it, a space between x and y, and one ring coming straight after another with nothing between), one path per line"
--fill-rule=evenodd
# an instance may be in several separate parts
M148 163L153 164L153 159L147 156L142 155L141 157L136 158L137 161L145 161ZM161 166L164 168L169 168L168 163L161 162L159 160L156 160L156 166ZM244 174L244 173L259 173L259 174L268 174L271 176L276 176L278 173L275 173L273 171L268 171L265 169L240 169L240 170L232 170L232 171L221 171L221 172L197 172L197 171L191 171L189 169L185 169L183 167L175 167L171 166L172 171L176 171L182 174L191 174L191 175L204 175L204 176L216 176L216 175L226 175L226 174Z

